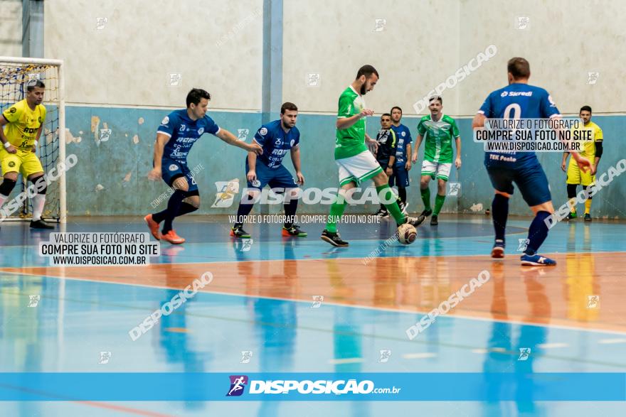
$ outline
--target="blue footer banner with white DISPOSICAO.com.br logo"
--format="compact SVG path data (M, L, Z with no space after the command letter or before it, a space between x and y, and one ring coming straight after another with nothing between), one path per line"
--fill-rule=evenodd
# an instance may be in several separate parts
M626 401L626 374L0 373L0 401Z

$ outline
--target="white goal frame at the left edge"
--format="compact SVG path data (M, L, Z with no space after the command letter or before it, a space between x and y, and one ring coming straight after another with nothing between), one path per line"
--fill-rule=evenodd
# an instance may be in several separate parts
M65 161L65 80L63 73L63 60L49 60L43 58L20 58L0 56L0 64L35 64L35 65L53 65L58 67L58 141L59 141L59 160ZM45 99L44 99L45 100ZM60 175L59 181L59 223L67 222L67 189L65 188L65 172ZM17 217L6 217L7 221L25 221Z

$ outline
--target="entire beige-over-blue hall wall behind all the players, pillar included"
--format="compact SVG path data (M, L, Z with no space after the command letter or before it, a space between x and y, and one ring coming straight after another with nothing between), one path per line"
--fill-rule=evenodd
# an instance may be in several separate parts
M145 178L154 131L169 111L184 107L191 87L211 92L213 119L248 141L266 119L264 91L265 96L267 91L278 92L277 102L295 102L301 110L298 127L307 187L327 188L336 185L336 102L360 65L371 63L381 73L376 89L366 97L368 107L378 114L368 118L368 133L374 136L379 115L399 104L403 123L415 138L418 115L413 104L491 44L497 45L497 54L442 93L444 112L459 123L464 158L460 197L449 197L444 211L482 212L490 205L492 189L482 149L471 140L471 117L489 92L506 84L506 60L514 55L530 60L532 82L546 87L562 112L573 114L582 104L594 107L594 121L606 138L602 171L619 161L624 148L618 129L626 121L625 98L614 90L615 80L621 80L618 65L626 57L620 47L625 29L617 23L622 13L615 10L624 6L612 3L610 9L601 3L529 1L511 9L509 3L482 0L403 0L390 2L393 7L373 0L285 0L272 1L270 8L267 0L46 0L46 58L67 64L68 153L79 158L68 173L70 215L153 210L150 202L166 191L163 183ZM603 27L593 26L585 19L587 13L602 16ZM518 28L524 16L529 17L527 27ZM263 49L267 26L274 38L265 48L282 65L280 77L269 82L264 77L270 65ZM599 73L595 83L588 83L588 72ZM216 183L238 180L243 188L244 158L243 151L213 136L196 143L189 166L199 169L201 213L236 210L234 205L211 205L223 186ZM560 158L556 153L540 156L556 205L566 200ZM288 158L286 163L291 168ZM411 178L410 208L419 211L418 169L411 171ZM602 193L593 211L626 217L620 205L625 181L618 179ZM324 205L300 207L310 213L328 210ZM277 210L280 207L270 207L270 212ZM511 213L526 215L529 210L516 197Z

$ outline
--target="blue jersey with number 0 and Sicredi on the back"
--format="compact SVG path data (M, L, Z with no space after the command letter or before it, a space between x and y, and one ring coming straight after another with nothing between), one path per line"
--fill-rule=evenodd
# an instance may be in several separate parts
M546 90L534 85L514 83L487 96L479 113L492 119L548 119L560 116ZM523 168L539 163L534 152L485 152L487 166Z

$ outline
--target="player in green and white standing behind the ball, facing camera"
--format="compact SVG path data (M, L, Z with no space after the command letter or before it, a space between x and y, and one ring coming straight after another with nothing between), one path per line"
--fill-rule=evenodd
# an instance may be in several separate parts
M439 224L439 213L445 202L445 188L450 170L452 169L452 139L457 147L455 167L461 168L461 136L457 122L452 117L443 114L443 99L440 96L431 97L428 109L430 114L422 117L418 124L418 139L415 143L413 161L418 159L418 148L424 141L424 162L422 163L422 178L420 179L420 193L424 202L422 215L431 214L430 224ZM430 207L430 178L437 180L437 195L435 195L435 210Z

